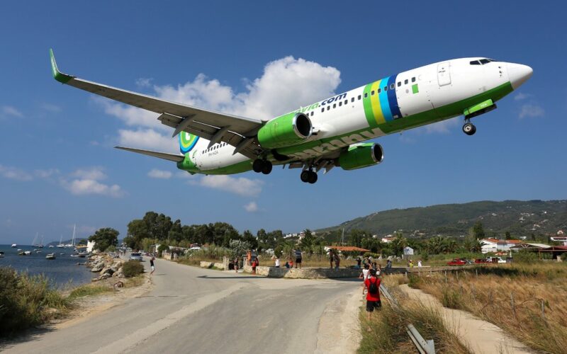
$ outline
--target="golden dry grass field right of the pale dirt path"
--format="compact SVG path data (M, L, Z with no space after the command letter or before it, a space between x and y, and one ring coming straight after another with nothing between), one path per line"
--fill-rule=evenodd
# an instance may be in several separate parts
M412 275L410 286L499 326L530 348L566 353L566 275L561 263L506 264L448 273L447 280L444 273Z

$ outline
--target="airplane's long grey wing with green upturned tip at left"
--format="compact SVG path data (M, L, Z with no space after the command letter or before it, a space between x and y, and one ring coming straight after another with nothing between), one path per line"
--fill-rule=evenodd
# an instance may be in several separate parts
M251 159L257 157L259 145L254 140L254 136L257 130L262 127L262 120L204 110L191 105L166 101L142 93L79 79L75 76L63 74L57 69L53 50L50 50L50 59L53 77L62 84L159 113L157 119L162 124L175 129L173 136L185 131L210 140L211 145L217 142L227 142L235 147L235 153L245 154Z

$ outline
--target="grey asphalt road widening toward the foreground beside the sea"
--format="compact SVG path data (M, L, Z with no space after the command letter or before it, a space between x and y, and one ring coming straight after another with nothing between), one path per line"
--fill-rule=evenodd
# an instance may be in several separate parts
M349 333L321 324L339 326L333 316L344 319L337 312L360 289L355 280L271 279L164 260L156 261L152 282L145 295L74 326L24 336L2 351L322 353L333 347L322 342Z

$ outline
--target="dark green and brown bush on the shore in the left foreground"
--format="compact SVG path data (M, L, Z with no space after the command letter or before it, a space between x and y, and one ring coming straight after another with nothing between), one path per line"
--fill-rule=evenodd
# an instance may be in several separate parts
M43 275L30 276L0 268L0 336L11 336L55 316L47 309L66 309L68 302Z

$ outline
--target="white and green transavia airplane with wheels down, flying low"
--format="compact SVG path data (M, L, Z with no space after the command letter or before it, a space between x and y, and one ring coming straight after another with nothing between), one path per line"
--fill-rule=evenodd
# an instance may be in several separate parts
M383 149L369 139L464 116L463 132L473 135L471 118L496 108L533 70L485 57L449 59L400 72L339 93L271 120L240 117L147 96L63 74L50 50L52 74L62 84L158 113L174 129L181 154L132 147L117 149L176 162L191 174L225 175L253 170L269 174L274 165L301 169L301 181L318 172L380 164Z

